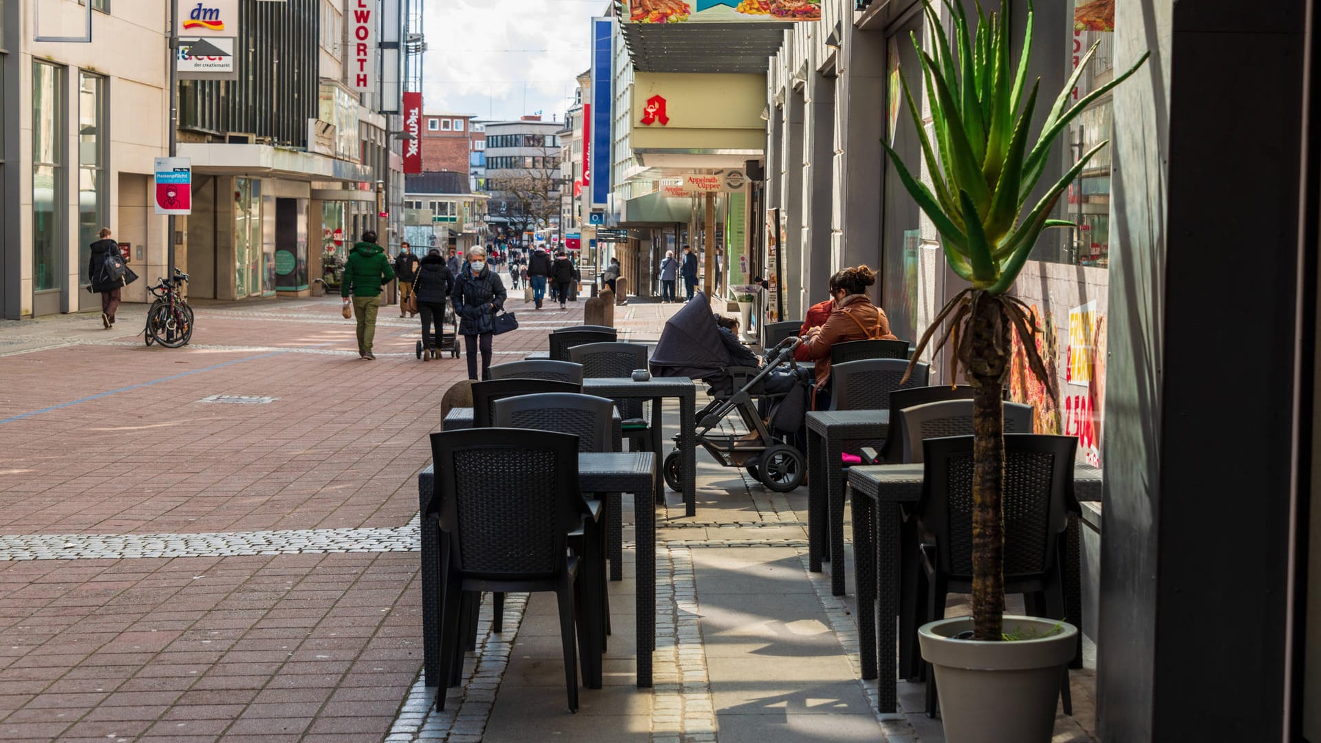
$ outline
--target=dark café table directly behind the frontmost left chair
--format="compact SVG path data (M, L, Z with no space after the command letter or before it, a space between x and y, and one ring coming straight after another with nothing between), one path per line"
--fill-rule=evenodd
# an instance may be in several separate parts
M435 469L428 464L417 475L417 502L425 516L435 492ZM651 452L581 452L579 487L584 493L633 493L637 542L638 686L651 686L651 653L655 650L655 493L657 456ZM440 678L440 555L446 549L436 520L421 520L421 625L423 668L428 686Z

